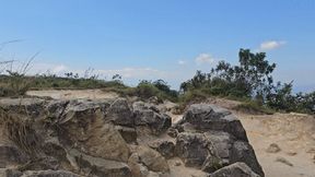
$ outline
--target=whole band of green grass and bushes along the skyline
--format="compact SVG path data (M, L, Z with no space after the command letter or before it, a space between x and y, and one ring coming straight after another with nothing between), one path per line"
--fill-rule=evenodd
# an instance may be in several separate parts
M26 76L7 71L8 74L0 75L0 96L24 95L27 90L102 88L141 99L153 96L160 102L168 99L178 103L182 110L186 105L215 96L241 101L243 104L236 107L238 110L261 114L272 114L275 110L315 114L315 92L292 94L292 82L275 84L272 72L276 63L269 63L265 52L253 54L249 49L241 49L238 58L236 66L220 61L209 73L197 71L192 79L180 84L178 92L171 90L163 80L143 80L136 87L130 87L122 83L119 74L114 75L112 81L105 81L97 79L97 75L80 78L78 73L72 72L66 73L65 76ZM25 68L27 67L28 63Z

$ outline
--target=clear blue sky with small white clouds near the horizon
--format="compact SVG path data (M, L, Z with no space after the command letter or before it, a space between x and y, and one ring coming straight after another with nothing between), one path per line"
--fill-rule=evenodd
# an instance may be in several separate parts
M94 69L129 84L164 79L174 88L240 48L266 51L276 80L315 88L313 0L0 0L0 60L25 61L31 73Z

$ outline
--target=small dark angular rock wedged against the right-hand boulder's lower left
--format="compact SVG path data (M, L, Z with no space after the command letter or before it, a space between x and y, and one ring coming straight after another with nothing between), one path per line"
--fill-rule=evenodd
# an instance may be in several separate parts
M167 140L156 140L149 144L153 150L156 150L165 158L171 158L174 156L175 145L172 141Z

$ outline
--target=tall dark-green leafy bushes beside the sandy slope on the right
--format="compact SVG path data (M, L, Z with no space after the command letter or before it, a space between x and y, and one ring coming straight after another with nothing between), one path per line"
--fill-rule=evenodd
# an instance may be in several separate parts
M273 83L276 63L266 60L265 52L248 49L238 52L238 64L220 61L210 73L197 71L180 85L182 101L221 96L242 101L236 109L270 114L273 110L315 114L315 92L292 94L291 83Z

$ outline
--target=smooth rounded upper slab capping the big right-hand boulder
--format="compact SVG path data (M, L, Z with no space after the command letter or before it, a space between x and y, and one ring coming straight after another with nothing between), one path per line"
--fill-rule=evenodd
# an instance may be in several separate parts
M229 110L214 105L191 105L185 113L182 122L189 122L201 131L224 131L231 133L236 139L248 141L241 121Z

